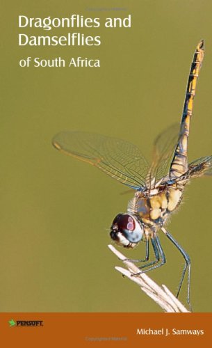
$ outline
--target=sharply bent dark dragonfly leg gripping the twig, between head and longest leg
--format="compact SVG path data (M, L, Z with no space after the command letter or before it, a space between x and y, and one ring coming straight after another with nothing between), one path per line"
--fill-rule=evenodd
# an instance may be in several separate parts
M161 266L163 266L163 264L165 264L165 254L163 252L163 248L161 246L161 242L159 241L158 237L156 236L156 237L152 238L151 242L152 242L152 247L154 250L155 260L139 267L140 269L142 269L142 268L146 268L146 267L151 266L148 269L145 269L145 270L142 270L136 274L133 274L133 276L135 276L135 275L137 276L141 273L146 273L148 271L152 271L152 269L161 267Z

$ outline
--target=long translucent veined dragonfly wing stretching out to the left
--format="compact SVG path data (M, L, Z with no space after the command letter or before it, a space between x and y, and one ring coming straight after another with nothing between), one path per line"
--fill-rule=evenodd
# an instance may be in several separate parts
M87 132L60 132L53 145L67 155L101 169L133 189L145 186L149 165L133 144L120 139Z

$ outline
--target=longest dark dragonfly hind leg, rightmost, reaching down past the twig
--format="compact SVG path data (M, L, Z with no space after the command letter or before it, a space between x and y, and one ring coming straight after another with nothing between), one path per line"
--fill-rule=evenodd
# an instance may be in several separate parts
M184 282L184 278L186 275L186 270L188 269L188 289L187 289L187 302L188 305L190 306L190 257L188 255L188 253L186 253L186 251L184 251L184 249L178 244L178 242L172 237L172 235L170 234L170 232L168 232L167 230L165 230L165 228L161 228L161 230L163 231L163 233L165 233L165 235L168 237L168 239L170 239L170 241L174 244L174 246L177 247L177 249L179 250L179 252L181 253L181 255L183 255L184 260L185 260L185 264L184 264L184 269L182 271L181 274L181 280L179 282L179 286L177 289L177 295L176 297L179 296L179 292L181 290L181 286ZM191 307L190 307L191 308Z

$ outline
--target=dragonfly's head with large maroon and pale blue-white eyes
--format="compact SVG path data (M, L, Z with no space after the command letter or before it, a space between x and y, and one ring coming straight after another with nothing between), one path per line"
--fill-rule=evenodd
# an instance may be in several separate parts
M111 238L124 248L134 248L142 239L143 228L136 216L117 214L111 226Z

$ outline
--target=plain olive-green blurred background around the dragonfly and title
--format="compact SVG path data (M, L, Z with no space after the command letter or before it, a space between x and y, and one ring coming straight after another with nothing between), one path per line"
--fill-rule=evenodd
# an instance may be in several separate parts
M160 308L115 271L108 228L131 193L92 166L58 153L60 130L127 139L151 155L158 132L179 122L190 62L200 39L206 56L197 86L190 160L212 154L211 1L2 1L1 10L1 311L154 312ZM122 10L113 10L113 8ZM90 10L93 8L93 10ZM98 10L99 8L99 10ZM28 17L127 17L131 29L77 29L101 35L99 47L18 47ZM72 31L72 29L70 29ZM20 68L27 56L100 58L101 68ZM194 180L170 232L192 260L195 311L212 309L212 177ZM165 237L168 263L152 271L175 292L183 260ZM120 251L124 251L120 249ZM145 246L125 251L141 257ZM185 284L186 285L186 284ZM186 302L186 286L181 301Z

